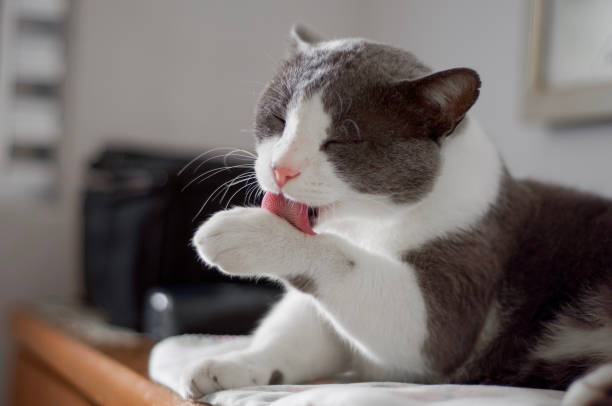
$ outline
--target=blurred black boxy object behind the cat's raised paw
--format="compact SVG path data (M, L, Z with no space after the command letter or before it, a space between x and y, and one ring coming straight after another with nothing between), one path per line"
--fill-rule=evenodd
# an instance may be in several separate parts
M252 161L215 153L192 160L109 148L91 162L84 279L88 303L111 323L155 338L248 333L280 294L270 284L230 280L203 265L191 247L196 228L214 212L259 205L247 193L255 191L254 179L249 187L239 182Z

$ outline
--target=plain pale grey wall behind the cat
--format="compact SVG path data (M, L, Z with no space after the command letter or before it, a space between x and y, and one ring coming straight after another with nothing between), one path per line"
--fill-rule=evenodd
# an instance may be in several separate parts
M71 33L68 138L57 204L0 203L0 314L15 299L80 290L78 185L107 140L250 147L257 93L295 21L370 37L483 79L474 114L512 172L612 196L612 125L553 130L521 119L527 2L507 0L81 0ZM0 317L0 337L6 336ZM0 385L7 341L0 338ZM0 399L2 389L0 386ZM0 402L1 403L1 402Z

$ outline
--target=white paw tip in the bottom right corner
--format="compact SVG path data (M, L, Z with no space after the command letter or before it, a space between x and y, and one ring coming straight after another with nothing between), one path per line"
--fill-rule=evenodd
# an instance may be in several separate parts
M563 397L562 406L612 406L612 363L576 380Z

